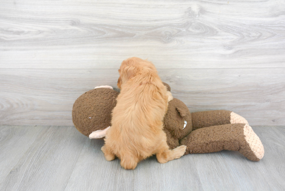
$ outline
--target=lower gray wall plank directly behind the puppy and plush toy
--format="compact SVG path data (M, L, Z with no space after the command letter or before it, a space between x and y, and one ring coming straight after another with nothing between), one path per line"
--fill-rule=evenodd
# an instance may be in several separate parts
M285 69L159 69L191 112L225 109L250 125L285 124ZM2 69L0 124L73 125L74 101L99 85L117 87L117 69Z

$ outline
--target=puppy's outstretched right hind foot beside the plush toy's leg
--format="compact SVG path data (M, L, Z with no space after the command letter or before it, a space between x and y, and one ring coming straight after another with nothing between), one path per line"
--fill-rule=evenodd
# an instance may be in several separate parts
M182 155L184 155L186 148L187 147L185 145L181 145L172 150L164 150L162 152L156 153L156 158L160 163L165 163L173 159L179 159Z

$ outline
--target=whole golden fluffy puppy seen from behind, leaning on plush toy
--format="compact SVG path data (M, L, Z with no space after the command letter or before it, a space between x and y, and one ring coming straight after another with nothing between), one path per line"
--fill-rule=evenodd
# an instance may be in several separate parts
M186 146L169 150L166 143L162 121L172 96L154 65L133 57L122 62L119 73L121 92L112 111L112 126L101 148L106 160L117 156L122 167L135 169L140 160L154 154L160 163L184 155Z

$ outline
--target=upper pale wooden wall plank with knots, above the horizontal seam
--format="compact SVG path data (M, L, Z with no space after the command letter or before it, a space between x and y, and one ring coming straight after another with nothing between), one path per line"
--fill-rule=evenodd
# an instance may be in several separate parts
M0 68L284 67L285 2L10 1L0 7Z

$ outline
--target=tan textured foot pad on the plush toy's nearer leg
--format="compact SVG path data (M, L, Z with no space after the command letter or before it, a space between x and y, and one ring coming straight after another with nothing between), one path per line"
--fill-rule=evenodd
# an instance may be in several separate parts
M252 128L247 124L243 127L243 134L245 136L245 141L249 144L254 155L259 160L262 159L264 156L264 148L257 134L255 134Z

